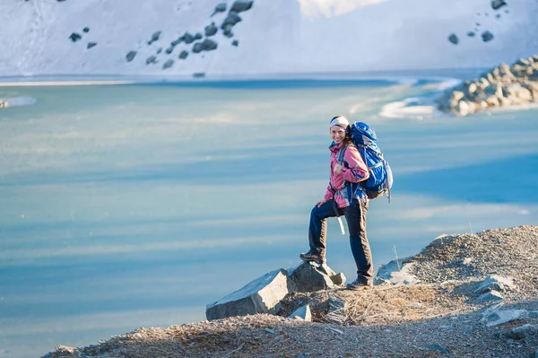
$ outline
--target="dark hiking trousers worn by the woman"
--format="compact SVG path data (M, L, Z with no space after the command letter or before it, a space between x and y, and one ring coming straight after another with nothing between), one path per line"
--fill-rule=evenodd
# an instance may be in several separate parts
M368 211L368 199L361 199L356 205L350 205L343 209L337 208L334 200L327 201L320 207L314 206L310 214L308 227L308 241L310 250L325 258L326 250L326 219L338 215L345 216L350 234L351 253L357 265L357 278L360 281L371 282L374 276L372 254L369 241L366 236L366 213Z

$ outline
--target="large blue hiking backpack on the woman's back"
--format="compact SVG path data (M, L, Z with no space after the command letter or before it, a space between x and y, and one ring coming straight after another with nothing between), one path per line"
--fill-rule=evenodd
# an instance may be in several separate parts
M369 179L361 181L360 185L369 199L386 194L390 203L390 189L393 184L392 170L377 146L376 132L366 123L355 122L351 124L351 139L362 159L368 166ZM343 152L339 153L339 162L343 162ZM340 158L342 156L342 158Z

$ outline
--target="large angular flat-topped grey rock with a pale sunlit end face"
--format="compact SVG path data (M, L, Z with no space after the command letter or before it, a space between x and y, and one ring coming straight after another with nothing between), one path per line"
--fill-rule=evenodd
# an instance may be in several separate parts
M202 73L193 74L202 77ZM274 270L230 293L220 301L208 304L207 319L223 319L256 313L274 313L278 304L288 293L296 291L295 283L284 269Z

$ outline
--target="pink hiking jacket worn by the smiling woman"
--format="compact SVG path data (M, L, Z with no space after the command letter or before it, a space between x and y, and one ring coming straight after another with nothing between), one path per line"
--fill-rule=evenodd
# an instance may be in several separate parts
M336 205L343 208L351 205L353 199L360 199L366 194L358 184L362 180L369 178L369 170L362 160L362 156L353 144L349 144L343 153L343 170L342 173L334 172L334 165L338 163L338 153L343 144L331 144L331 179L325 192L325 200L334 198Z

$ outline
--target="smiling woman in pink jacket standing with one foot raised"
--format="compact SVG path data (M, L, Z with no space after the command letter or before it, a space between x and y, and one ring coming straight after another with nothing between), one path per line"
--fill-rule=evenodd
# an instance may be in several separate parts
M350 137L350 123L343 116L331 119L329 126L333 143L331 151L331 176L322 200L310 214L308 241L310 250L300 254L304 261L325 264L326 218L345 216L350 234L351 253L357 265L357 279L347 288L359 290L372 285L374 268L366 237L366 212L369 199L360 181L369 178L369 170Z

